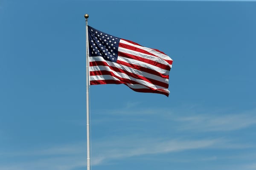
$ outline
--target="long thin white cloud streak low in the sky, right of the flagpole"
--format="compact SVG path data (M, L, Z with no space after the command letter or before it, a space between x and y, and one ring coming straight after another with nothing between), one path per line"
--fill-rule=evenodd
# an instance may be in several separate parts
M115 142L113 143L113 141ZM93 148L97 148L98 150L94 151L93 159L100 160L98 161L98 164L104 164L116 159L125 159L134 156L166 154L185 150L204 150L212 148L241 149L245 147L244 144L232 145L230 143L231 142L225 139L113 139L111 141L104 141L94 144Z

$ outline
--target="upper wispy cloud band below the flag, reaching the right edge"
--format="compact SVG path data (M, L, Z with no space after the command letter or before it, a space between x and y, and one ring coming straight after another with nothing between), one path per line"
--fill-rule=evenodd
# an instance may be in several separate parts
M228 113L227 113L228 112ZM104 113L104 114L103 114ZM196 109L183 110L180 108L126 108L104 111L95 111L94 114L111 116L98 116L93 122L115 121L147 121L147 118L157 121L172 122L173 130L189 130L191 132L232 131L256 125L256 109L230 113L230 111L200 111Z

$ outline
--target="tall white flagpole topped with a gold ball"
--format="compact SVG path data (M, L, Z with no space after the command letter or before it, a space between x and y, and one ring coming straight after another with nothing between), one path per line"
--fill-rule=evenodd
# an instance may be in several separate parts
M89 125L89 48L88 48L88 20L89 15L85 14L86 22L86 121L87 121L87 170L90 170L90 125Z

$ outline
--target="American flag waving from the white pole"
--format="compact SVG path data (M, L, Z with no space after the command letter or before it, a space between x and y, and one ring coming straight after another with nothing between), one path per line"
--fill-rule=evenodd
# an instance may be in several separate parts
M88 26L90 85L125 84L137 92L169 96L172 59Z

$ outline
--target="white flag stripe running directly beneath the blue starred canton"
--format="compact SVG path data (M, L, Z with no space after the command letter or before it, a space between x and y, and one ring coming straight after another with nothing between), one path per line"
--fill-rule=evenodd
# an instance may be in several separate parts
M122 58L122 57L120 57L120 58ZM117 64L116 62L108 62L105 59L103 59L103 57L89 57L89 59L90 59L90 62L91 61L106 62L106 63L108 63L108 65L110 65L112 67L120 68L120 69L122 69L124 71L127 71L129 73L138 74L138 75L140 75L142 77L145 77L145 78L155 79L155 80L160 81L160 82L165 82L166 84L169 83L169 79L166 79L166 78L163 78L163 77L160 77L160 76L156 76L154 74L150 74L150 73L147 73L147 72L144 72L144 71L140 71L140 70L137 70L137 69L125 66L125 65L120 65L120 64ZM169 71L166 71L166 74L169 74Z

